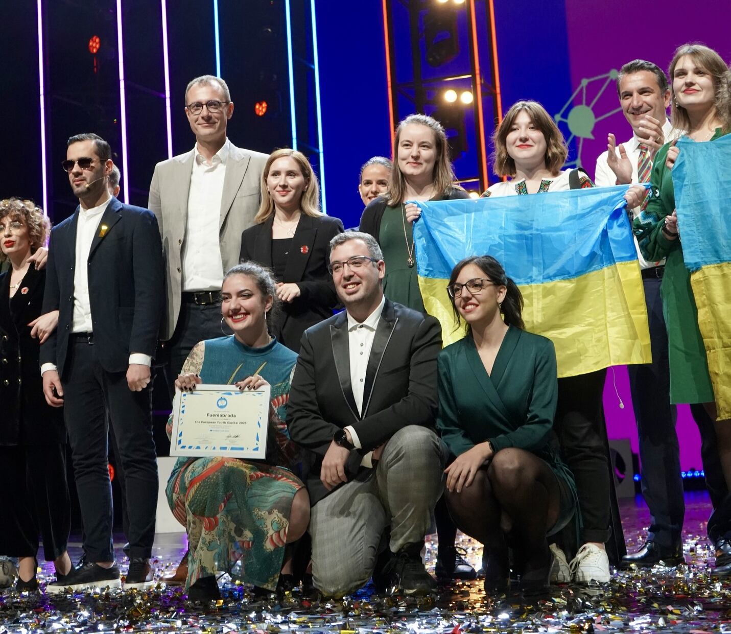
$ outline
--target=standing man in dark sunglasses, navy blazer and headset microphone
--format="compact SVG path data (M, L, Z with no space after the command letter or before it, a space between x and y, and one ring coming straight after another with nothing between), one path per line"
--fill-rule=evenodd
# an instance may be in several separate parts
M154 576L149 558L158 481L150 366L164 301L160 233L151 211L110 195L113 163L104 139L71 137L62 165L80 204L51 231L43 312L58 310L58 326L41 345L40 362L46 401L64 407L84 556L47 590L121 585L112 542L107 420L126 476L125 584L142 589Z

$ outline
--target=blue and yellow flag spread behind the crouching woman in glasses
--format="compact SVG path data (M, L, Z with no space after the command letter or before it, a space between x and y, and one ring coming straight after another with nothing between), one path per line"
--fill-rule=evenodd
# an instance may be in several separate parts
M444 344L463 336L447 282L456 263L489 254L525 300L526 328L556 347L558 376L650 363L645 293L626 186L418 203L419 284Z

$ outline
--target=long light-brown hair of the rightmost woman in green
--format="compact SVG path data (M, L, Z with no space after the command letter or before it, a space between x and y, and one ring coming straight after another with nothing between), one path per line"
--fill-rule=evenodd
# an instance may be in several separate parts
M670 100L670 116L673 127L686 132L690 129L688 111L683 106L678 105L675 99L675 88L673 88L675 67L684 55L691 56L696 64L706 69L713 77L713 88L716 90L716 99L713 99L713 105L716 107L716 115L724 124L724 131L728 131L731 129L731 72L729 72L729 67L715 50L702 44L683 44L679 46L675 50L675 56L673 56L670 68L667 70L667 75L670 77L670 93L673 96L673 99Z

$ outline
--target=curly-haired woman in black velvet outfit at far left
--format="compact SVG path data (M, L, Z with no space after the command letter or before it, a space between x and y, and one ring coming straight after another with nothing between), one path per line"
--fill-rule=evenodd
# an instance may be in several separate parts
M49 228L30 200L0 201L0 260L10 262L0 275L0 553L18 557L20 591L38 587L39 535L57 577L71 569L63 410L43 398L39 342L31 337L31 322L41 314L45 271L29 258L45 244Z

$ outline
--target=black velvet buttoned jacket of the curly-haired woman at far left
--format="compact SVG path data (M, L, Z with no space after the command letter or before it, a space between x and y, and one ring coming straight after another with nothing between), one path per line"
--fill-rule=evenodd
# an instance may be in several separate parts
M45 401L28 325L41 314L44 285L45 271L31 264L10 298L10 271L0 275L0 445L66 442L64 410Z

